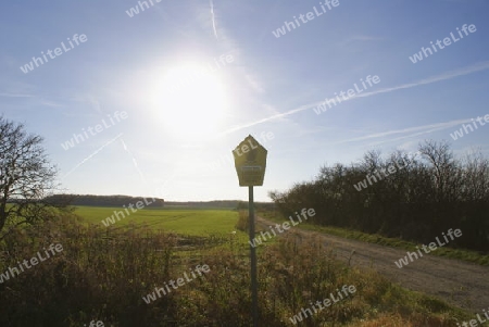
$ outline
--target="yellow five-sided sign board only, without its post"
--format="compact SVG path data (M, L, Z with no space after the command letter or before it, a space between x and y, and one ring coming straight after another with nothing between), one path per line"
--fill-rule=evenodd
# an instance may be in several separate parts
M267 152L251 135L233 150L239 186L263 185Z

